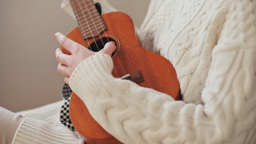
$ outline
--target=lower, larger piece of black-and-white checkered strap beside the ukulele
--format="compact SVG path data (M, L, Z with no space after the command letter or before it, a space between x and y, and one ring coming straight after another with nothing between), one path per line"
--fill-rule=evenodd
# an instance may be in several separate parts
M69 118L69 101L70 101L70 98L65 100L65 103L61 106L60 121L67 128L69 128L73 131L76 131L72 122L71 122L71 119Z

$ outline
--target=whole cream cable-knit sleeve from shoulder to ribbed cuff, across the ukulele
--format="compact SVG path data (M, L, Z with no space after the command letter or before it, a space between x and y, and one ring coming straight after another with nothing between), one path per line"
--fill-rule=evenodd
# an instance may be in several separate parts
M91 115L124 143L254 143L256 121L255 2L230 5L202 91L204 105L111 75L112 59L91 56L70 85ZM240 11L237 12L236 10Z

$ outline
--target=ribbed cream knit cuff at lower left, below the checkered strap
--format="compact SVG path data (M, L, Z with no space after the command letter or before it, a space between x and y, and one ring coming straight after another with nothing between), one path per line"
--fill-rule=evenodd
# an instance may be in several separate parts
M82 137L65 127L52 127L48 123L24 118L12 143L84 143Z

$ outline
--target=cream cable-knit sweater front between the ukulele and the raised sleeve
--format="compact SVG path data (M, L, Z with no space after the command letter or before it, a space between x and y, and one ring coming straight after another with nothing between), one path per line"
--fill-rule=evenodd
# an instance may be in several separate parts
M141 27L142 46L173 64L184 101L202 103L201 91L211 65L213 47L225 20L226 2L184 0L158 3L157 8L149 9L147 23Z

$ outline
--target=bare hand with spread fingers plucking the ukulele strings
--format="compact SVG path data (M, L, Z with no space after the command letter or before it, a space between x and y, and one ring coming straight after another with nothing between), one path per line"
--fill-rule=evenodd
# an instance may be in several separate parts
M114 41L107 43L101 51L94 52L90 51L83 45L75 43L73 40L67 38L62 33L55 33L55 38L59 41L61 46L71 52L71 55L67 55L63 53L59 48L55 51L56 59L59 62L57 71L60 74L66 75L64 81L68 85L69 78L72 75L74 69L86 58L95 55L96 53L105 53L111 56L116 49Z

